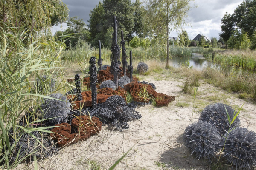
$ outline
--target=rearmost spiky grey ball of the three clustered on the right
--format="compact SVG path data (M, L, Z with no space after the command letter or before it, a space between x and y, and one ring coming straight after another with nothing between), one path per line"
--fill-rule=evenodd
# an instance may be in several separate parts
M224 135L229 130L229 128L231 130L240 125L240 118L239 116L237 116L230 127L225 107L230 116L230 120L233 120L233 117L237 112L235 113L235 110L233 108L231 108L229 105L225 105L222 103L215 103L205 107L199 119L207 121L210 124L214 125L215 127L217 127L221 135Z

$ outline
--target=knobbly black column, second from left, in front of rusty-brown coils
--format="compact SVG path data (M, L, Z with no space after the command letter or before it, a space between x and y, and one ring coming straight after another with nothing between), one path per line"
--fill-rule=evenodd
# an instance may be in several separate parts
M96 104L97 104L97 87L96 87L96 83L98 82L97 79L97 68L96 68L96 58L94 56L92 56L90 58L89 64L90 64L90 68L89 68L89 74L90 74L90 87L91 87L91 91L92 91L92 107L95 108Z

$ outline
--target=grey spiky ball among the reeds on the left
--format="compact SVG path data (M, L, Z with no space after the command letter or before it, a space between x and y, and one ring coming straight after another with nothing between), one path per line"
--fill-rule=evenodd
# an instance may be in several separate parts
M55 99L47 99L43 98L43 102L41 104L41 112L43 113L43 119L49 119L48 121L52 124L66 122L67 117L70 113L70 102L66 96L63 96L60 93L54 93L49 95L49 97L53 97L60 100Z

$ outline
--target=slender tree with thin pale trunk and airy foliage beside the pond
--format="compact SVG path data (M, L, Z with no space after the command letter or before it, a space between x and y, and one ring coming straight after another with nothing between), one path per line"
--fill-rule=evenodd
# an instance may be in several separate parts
M194 0L147 0L146 9L151 35L166 37L166 67L169 66L169 32L186 26L185 18Z

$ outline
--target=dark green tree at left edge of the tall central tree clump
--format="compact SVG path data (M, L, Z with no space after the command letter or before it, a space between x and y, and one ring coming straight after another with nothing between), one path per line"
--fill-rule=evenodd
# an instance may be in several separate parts
M105 11L103 8L103 4L99 1L99 4L96 5L93 11L90 11L90 20L88 20L87 24L92 38L95 38L97 34L102 32L104 15ZM97 43L98 40L96 40L96 44L93 43L93 45L97 45Z

